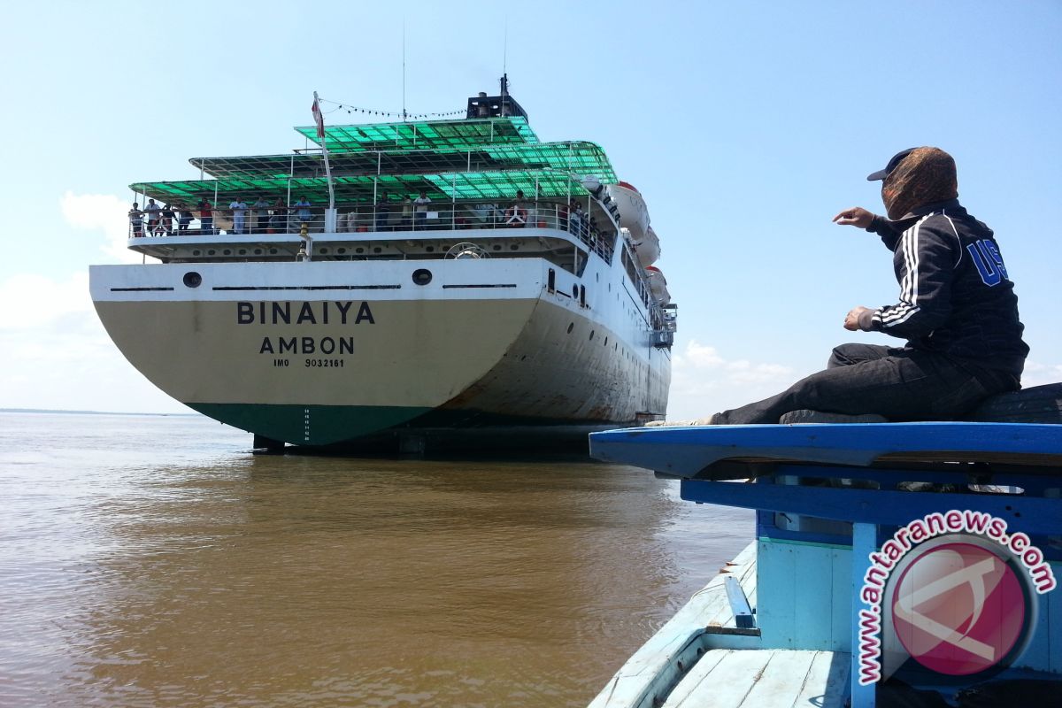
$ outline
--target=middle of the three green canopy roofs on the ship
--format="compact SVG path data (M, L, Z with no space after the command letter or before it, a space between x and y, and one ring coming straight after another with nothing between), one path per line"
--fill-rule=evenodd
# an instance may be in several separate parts
M320 153L251 155L244 157L196 157L189 160L219 178L319 177L324 176ZM537 142L485 144L457 150L380 150L329 154L332 175L412 174L417 172L496 172L507 169L555 169L578 175L594 175L602 183L616 182L612 163L593 142Z

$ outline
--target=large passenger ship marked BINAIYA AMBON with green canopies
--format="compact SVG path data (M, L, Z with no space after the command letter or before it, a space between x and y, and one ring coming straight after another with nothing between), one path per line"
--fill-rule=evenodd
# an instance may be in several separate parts
M155 385L266 447L552 449L665 414L675 307L600 146L539 141L504 79L464 119L295 129L131 186L144 263L90 287Z

